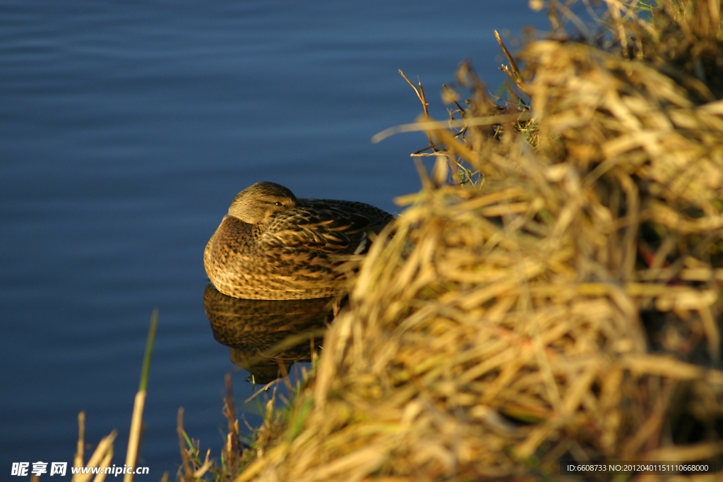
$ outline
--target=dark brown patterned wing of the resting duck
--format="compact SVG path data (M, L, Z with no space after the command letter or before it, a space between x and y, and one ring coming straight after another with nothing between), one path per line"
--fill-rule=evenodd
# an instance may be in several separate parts
M299 199L293 209L270 221L262 242L299 251L358 254L369 247L369 233L393 220L388 212L361 202Z

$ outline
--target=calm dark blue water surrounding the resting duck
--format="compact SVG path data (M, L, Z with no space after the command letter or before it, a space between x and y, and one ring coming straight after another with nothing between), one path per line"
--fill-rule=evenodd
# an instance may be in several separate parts
M526 0L0 0L0 479L72 462L80 410L124 463L154 307L139 465L175 475L181 406L218 457L224 374L259 420L202 303L234 195L268 180L398 211L426 139L369 140L421 111L398 69L445 118L463 59L505 78L493 29L546 23Z

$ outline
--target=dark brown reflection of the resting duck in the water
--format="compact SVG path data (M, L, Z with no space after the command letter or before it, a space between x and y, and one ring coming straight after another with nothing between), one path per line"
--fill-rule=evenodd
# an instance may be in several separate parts
M226 296L213 285L203 294L213 337L228 346L231 361L257 384L286 376L296 361L311 361L312 345L320 344L333 319L335 300L247 300Z

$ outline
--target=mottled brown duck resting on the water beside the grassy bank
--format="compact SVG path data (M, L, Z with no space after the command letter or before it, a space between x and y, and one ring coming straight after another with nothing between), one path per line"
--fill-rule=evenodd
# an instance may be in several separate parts
M215 288L234 298L337 296L345 279L338 255L366 253L393 219L363 202L297 199L281 184L257 182L234 197L203 264Z

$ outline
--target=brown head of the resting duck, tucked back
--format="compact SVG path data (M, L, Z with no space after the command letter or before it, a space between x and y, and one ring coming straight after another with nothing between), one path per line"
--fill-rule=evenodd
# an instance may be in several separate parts
M296 196L290 190L273 182L257 182L236 194L228 214L244 223L258 224L276 212L296 205Z

